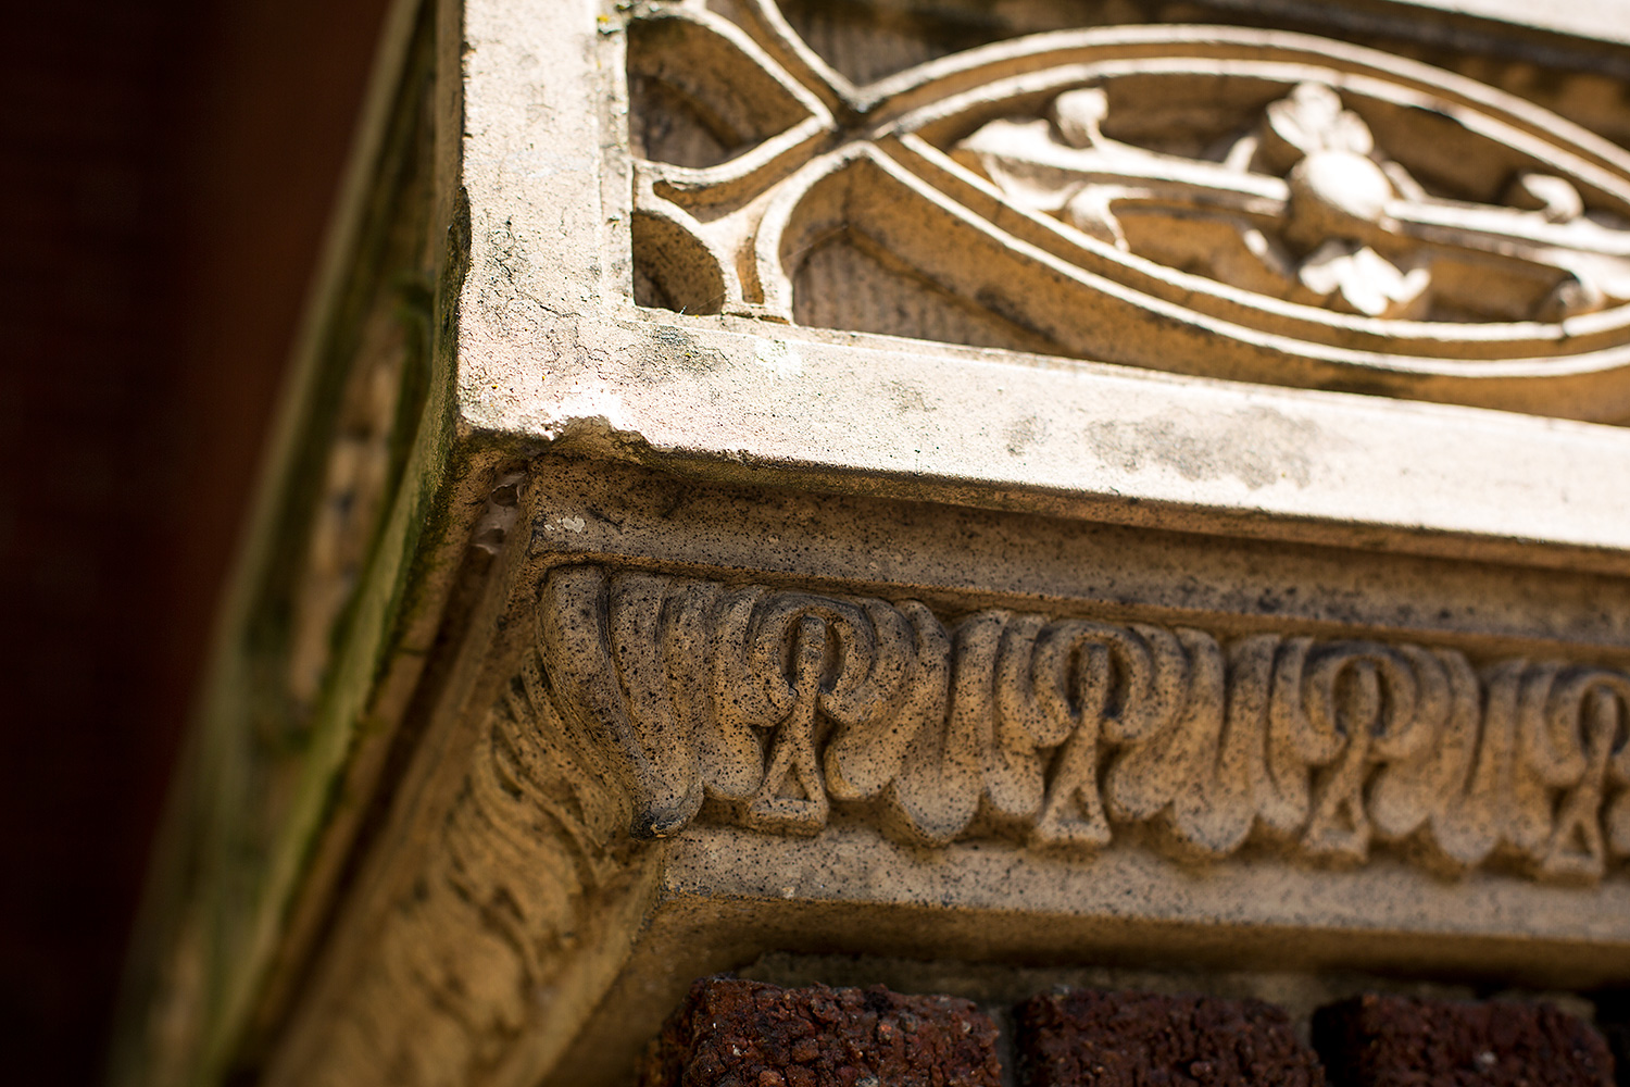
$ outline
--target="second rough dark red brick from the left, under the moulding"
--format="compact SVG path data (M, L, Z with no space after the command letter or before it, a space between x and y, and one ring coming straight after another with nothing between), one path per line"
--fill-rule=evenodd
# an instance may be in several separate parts
M1077 991L1017 1010L1029 1087L1322 1087L1314 1053L1263 1001Z

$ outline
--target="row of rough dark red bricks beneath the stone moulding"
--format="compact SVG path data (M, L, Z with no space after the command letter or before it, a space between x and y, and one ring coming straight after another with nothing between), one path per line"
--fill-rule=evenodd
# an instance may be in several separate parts
M1545 1002L1371 992L1297 1023L1258 999L1077 989L981 1007L720 976L691 988L641 1069L641 1087L1001 1084L1614 1087L1614 1058Z

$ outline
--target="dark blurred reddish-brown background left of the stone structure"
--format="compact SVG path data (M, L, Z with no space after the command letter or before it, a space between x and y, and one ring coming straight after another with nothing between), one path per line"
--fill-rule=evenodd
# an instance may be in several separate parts
M3 1079L91 1084L385 0L11 7Z

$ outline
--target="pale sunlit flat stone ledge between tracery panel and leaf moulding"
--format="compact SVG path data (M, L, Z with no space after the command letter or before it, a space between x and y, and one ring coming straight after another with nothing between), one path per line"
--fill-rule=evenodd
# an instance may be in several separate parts
M730 324L469 329L465 420L730 482L1630 570L1622 427Z

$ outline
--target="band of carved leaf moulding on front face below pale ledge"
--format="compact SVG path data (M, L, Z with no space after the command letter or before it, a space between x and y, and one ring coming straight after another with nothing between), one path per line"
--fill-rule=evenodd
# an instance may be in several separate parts
M553 570L553 706L598 735L634 833L924 846L1148 836L1594 880L1630 857L1630 675L1452 649L885 603L597 566ZM1143 839L1143 838L1139 838Z

